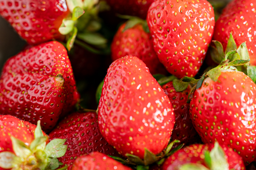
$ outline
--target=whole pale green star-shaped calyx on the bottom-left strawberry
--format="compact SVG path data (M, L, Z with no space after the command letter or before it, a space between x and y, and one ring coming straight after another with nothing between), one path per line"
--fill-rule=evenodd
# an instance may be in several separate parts
M63 165L57 158L66 153L67 145L63 145L65 139L54 139L46 145L48 138L43 135L40 121L37 122L34 137L28 146L11 136L14 153L0 152L0 167L11 170L54 170Z

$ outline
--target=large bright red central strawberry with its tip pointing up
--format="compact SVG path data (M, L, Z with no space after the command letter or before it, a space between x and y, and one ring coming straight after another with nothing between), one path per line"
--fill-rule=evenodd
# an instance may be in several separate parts
M110 65L99 103L99 128L122 155L131 153L143 159L145 148L154 154L162 152L172 134L172 109L139 58L126 56Z

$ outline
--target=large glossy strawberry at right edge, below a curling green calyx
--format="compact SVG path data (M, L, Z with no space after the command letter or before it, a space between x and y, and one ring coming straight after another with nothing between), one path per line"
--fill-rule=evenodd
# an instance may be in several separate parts
M223 70L217 81L206 78L190 103L190 117L204 143L218 141L244 162L255 158L256 85L243 72Z

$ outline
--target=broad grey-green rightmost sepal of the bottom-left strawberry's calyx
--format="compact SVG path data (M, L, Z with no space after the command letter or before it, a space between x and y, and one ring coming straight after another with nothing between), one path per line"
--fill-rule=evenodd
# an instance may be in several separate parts
M66 153L68 148L67 145L63 145L65 142L66 139L53 139L46 145L44 152L48 157L60 158Z

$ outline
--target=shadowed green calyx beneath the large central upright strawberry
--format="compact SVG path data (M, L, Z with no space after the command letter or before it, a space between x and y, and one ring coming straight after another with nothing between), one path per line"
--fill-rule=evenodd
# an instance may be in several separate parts
M147 148L145 148L143 160L140 159L138 156L135 156L129 153L125 154L125 156L127 157L126 160L121 159L119 157L113 157L113 156L109 156L109 157L121 162L122 164L130 164L133 166L137 166L137 170L148 169L148 165L151 165L153 163L156 163L158 165L163 164L166 157L171 156L172 154L179 151L180 148L184 146L184 144L180 144L179 146L171 150L174 143L180 143L180 141L179 140L172 141L170 144L168 144L168 146L165 148L163 152L157 155L155 155L154 153L149 151Z

